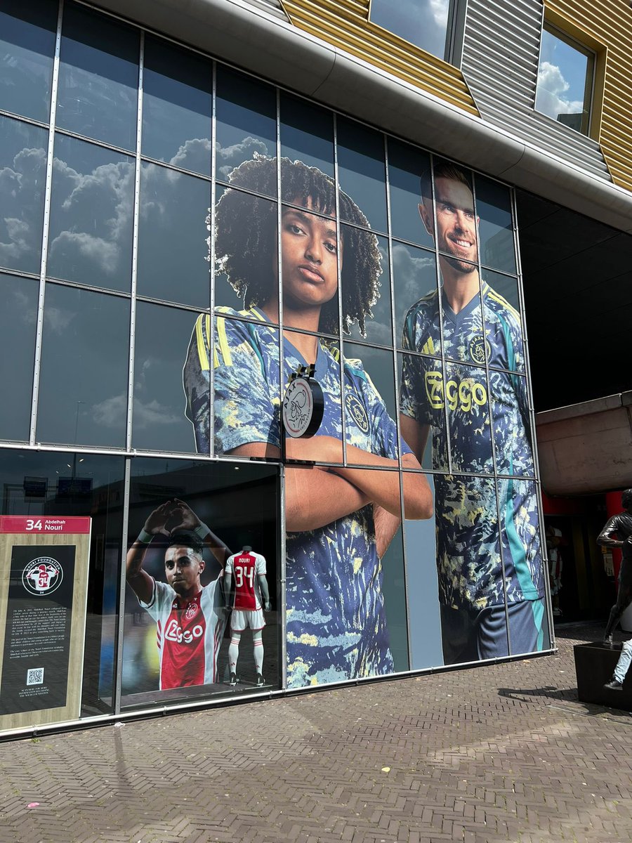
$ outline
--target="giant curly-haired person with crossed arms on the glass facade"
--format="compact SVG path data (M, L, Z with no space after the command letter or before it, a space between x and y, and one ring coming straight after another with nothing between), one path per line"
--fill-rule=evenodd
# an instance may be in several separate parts
M257 157L230 175L233 187L276 193L276 159ZM187 415L195 443L208 450L210 362L215 388L216 453L278 459L281 456L281 389L299 366L315 362L324 394L319 435L288 439L287 459L321 466L287 466L287 684L289 687L388 674L394 669L382 591L381 556L399 527L399 473L341 465L397 468L394 421L360 360L345 359L336 334L338 261L341 260L342 325L364 319L378 297L381 273L377 239L367 218L340 193L345 227L339 242L335 185L318 169L281 159L281 266L283 369L280 369L276 210L243 191L225 191L216 210L219 265L246 309L220 309L215 334L202 315L185 363ZM342 254L344 253L344 260ZM290 330L290 329L298 329ZM340 389L340 368L344 387ZM345 431L341 404L345 406ZM402 462L419 463L404 443ZM409 518L431 516L424 475L404 481Z

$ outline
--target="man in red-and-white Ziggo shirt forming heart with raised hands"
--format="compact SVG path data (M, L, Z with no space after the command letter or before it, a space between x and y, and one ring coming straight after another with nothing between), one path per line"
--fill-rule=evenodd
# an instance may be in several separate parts
M142 568L149 544L168 541L164 554L166 583ZM127 582L157 624L160 690L217 682L217 653L226 626L221 575L201 584L203 542L223 566L230 551L183 501L153 510L127 551Z

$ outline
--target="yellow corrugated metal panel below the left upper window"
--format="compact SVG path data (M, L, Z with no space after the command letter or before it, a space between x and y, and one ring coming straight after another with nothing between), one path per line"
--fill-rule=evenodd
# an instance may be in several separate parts
M283 0L299 29L478 115L463 74L368 20L369 0Z

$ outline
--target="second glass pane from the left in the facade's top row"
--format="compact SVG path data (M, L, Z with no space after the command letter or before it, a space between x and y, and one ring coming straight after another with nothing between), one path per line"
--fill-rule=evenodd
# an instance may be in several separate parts
M123 149L136 147L137 30L83 6L64 9L56 125Z

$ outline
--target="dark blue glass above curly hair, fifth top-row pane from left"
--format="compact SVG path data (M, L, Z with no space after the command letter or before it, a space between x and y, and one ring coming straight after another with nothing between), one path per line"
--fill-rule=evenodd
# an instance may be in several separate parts
M281 91L281 155L334 177L331 111Z

